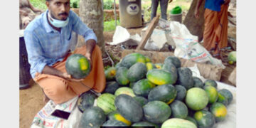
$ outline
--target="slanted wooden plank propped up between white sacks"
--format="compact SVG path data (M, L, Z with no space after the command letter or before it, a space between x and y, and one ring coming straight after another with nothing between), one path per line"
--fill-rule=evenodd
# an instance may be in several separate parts
M154 17L151 23L149 23L149 27L146 28L145 36L142 38L142 41L139 43L139 46L137 46L136 48L137 50L144 48L144 46L146 45L146 41L151 36L151 33L154 31L154 28L156 28L158 21L159 21L159 15Z

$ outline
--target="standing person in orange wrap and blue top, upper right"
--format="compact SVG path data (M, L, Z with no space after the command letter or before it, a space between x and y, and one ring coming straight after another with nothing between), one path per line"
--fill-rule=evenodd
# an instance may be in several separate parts
M203 0L198 0L194 15L199 18L198 9ZM206 0L204 12L203 46L216 58L220 50L228 46L228 4L230 0Z

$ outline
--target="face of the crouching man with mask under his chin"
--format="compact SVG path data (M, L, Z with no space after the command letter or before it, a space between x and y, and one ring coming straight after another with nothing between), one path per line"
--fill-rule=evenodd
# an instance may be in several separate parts
M70 0L51 0L46 1L46 6L50 12L50 16L55 19L65 21L70 11Z

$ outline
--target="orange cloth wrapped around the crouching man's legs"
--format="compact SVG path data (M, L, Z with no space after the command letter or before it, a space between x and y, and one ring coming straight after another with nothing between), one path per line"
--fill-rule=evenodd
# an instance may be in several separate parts
M85 51L86 46L82 46L81 48L77 48L74 53L85 55ZM71 53L67 55L63 61L55 63L52 68L66 73L65 61L70 55ZM83 84L90 88L85 87L85 85L82 85L80 82L70 82L69 80L65 80L55 75L36 73L34 80L40 85L43 92L46 93L50 100L55 102L55 104L67 102L73 97L80 95L82 92L90 90L90 88L96 92L102 92L105 89L106 79L101 50L99 46L95 46L95 49L92 52L92 70L89 75L82 80Z

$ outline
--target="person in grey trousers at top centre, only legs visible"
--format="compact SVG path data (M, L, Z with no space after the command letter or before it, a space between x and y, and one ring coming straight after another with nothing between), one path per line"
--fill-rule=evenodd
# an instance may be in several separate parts
M151 20L156 17L156 11L159 6L160 2L160 8L161 8L161 18L167 20L167 7L168 3L171 3L172 0L151 0Z

